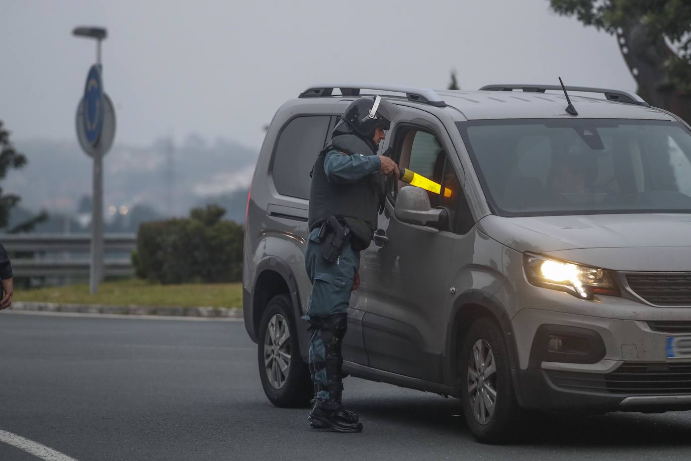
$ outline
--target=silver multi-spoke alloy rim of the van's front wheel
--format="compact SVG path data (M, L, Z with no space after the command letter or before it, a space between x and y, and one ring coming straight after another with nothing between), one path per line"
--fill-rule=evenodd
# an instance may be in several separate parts
M492 348L478 339L468 357L468 402L475 420L487 424L497 404L497 367Z

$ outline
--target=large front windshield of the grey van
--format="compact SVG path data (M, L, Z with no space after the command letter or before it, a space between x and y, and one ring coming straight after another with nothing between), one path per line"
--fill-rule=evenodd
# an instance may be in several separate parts
M458 122L500 216L691 213L691 132L658 120Z

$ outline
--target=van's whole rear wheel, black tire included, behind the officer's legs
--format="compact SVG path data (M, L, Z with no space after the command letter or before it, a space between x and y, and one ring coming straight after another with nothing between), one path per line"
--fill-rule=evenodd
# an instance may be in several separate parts
M306 407L314 397L292 312L290 297L278 294L267 304L259 323L259 377L269 401L281 408Z

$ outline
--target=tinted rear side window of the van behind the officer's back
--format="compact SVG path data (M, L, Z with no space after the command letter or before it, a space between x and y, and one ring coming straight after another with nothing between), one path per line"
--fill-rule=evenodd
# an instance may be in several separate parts
M276 142L272 178L278 194L310 198L310 171L326 142L328 115L307 115L291 120Z

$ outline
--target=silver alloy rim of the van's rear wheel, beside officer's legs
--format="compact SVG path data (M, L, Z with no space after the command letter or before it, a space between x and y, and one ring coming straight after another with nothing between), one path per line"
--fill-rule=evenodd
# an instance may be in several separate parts
M282 388L290 370L290 328L281 314L274 314L266 328L264 368L272 387Z

